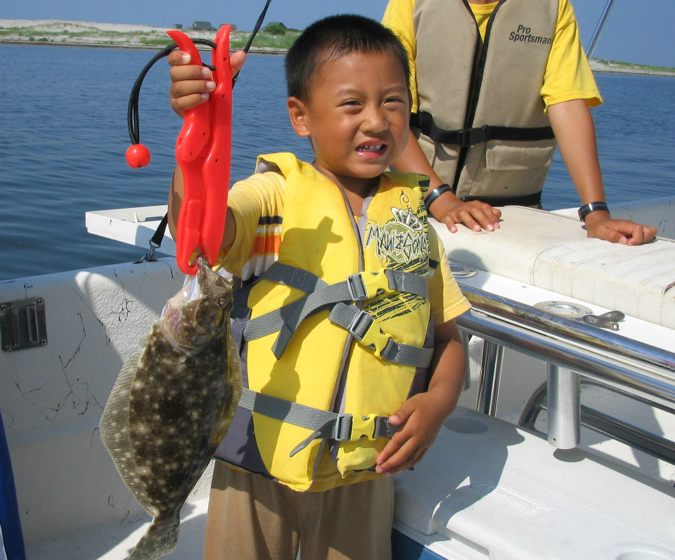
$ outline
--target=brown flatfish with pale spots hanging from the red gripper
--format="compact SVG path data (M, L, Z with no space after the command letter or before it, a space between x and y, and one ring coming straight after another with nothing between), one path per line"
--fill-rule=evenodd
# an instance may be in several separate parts
M232 284L199 257L124 363L100 431L122 481L153 523L129 559L175 549L179 515L225 435L241 394L229 315Z

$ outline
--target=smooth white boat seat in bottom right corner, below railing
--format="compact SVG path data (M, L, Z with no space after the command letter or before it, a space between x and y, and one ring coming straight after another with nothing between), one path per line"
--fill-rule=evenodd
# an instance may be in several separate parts
M467 408L394 488L394 559L675 560L670 485Z

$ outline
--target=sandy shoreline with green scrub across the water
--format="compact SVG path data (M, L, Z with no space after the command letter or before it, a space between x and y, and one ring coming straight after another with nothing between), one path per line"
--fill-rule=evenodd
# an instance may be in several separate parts
M213 39L212 31L184 30L190 37ZM105 48L148 48L158 50L167 37L167 28L150 25L98 23L70 20L3 20L0 19L0 44L33 44L49 46L86 46ZM237 32L233 32L233 35ZM240 32L248 33L248 32ZM251 48L251 52L283 54L278 48ZM675 77L675 70L653 69L641 65L611 63L591 59L593 72L643 74Z

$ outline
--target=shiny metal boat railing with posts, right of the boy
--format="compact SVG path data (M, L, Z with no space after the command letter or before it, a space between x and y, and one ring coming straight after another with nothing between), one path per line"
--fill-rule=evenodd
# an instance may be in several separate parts
M582 385L598 385L675 414L675 353L617 332L461 285L472 309L457 319L465 339L484 340L476 409L496 415L504 349L546 363L547 381L526 401L519 424L534 429L548 412L548 441L555 448L579 445L580 426L675 464L675 444L658 434L581 406Z

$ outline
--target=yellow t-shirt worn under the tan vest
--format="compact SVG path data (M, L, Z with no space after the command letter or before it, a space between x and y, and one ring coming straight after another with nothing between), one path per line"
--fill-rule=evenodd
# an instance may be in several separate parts
M478 30L483 38L485 37L489 17L497 4L499 2L470 4L478 24ZM383 17L383 24L397 33L406 51L408 51L411 66L411 93L413 96L412 112L417 112L414 8L415 0L390 0ZM548 55L548 63L544 72L544 83L539 93L541 93L546 108L549 105L572 99L584 99L589 107L596 107L603 103L584 48L579 41L579 27L574 17L574 9L568 0L560 0L558 5L558 22L555 26L551 53Z

